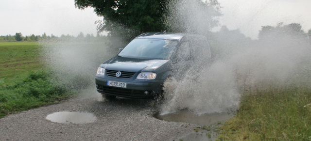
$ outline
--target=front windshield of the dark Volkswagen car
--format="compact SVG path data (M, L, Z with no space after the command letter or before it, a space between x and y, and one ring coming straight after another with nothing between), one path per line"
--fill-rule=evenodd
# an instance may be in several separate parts
M178 41L166 39L134 39L118 54L121 57L169 59Z

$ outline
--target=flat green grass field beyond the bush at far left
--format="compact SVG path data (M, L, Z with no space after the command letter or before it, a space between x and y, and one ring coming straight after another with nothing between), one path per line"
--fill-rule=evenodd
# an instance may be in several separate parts
M0 79L14 83L15 78L44 68L36 42L0 42Z

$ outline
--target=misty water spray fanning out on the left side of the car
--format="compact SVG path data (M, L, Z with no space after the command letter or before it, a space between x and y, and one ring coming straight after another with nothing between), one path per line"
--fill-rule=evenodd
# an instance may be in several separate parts
M106 41L48 40L42 41L43 59L58 83L69 89L94 87L99 64L117 53Z

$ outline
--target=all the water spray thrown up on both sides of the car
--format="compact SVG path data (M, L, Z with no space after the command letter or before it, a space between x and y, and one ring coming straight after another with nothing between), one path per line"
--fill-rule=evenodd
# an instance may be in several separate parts
M208 36L210 29L217 25L214 17L219 13L206 10L195 1L170 3L168 27ZM228 33L220 31L218 38L210 40L214 61L209 67L197 70L198 78L193 79L191 74L164 83L166 101L161 106L162 113L180 109L198 114L224 112L238 107L245 89L292 84L310 86L311 57L308 53L311 47L304 39L273 37L272 42L247 41L239 40L241 34ZM72 88L94 84L98 65L117 53L116 48L102 42L68 40L42 45L44 59L55 77ZM198 63L206 60L202 61Z

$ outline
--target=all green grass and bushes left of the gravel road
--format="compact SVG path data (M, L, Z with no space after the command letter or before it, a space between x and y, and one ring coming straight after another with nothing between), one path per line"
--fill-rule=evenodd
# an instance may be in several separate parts
M69 96L52 82L35 42L0 42L0 118Z

